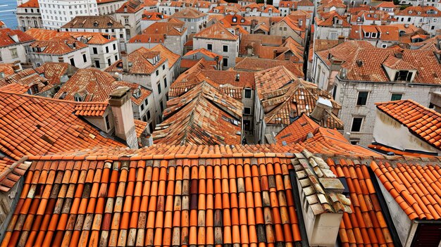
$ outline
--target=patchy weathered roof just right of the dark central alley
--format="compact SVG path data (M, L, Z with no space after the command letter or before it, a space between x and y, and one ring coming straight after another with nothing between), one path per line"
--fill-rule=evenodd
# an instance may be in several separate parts
M316 84L295 77L283 66L256 72L254 77L257 96L264 108L267 124L289 125L291 118L302 113L309 115L315 108L318 97L329 99L334 109L341 108L330 94L318 89ZM331 113L321 125L342 129L343 122Z

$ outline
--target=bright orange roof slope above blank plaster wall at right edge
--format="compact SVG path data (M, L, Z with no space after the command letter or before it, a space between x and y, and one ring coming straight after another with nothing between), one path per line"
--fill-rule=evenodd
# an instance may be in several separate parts
M407 127L416 137L441 149L441 113L421 106L411 99L375 105L378 110Z

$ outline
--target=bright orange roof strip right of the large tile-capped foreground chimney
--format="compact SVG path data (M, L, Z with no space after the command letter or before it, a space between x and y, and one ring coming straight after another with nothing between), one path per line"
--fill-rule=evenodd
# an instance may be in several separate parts
M394 246L368 165L349 158L328 158L326 163L337 177L346 179L352 202L352 213L344 213L340 224L342 247Z

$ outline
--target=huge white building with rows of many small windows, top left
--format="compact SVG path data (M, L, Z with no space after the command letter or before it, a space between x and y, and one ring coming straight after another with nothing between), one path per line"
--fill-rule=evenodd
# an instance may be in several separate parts
M38 0L43 25L58 30L78 15L98 15L97 0Z

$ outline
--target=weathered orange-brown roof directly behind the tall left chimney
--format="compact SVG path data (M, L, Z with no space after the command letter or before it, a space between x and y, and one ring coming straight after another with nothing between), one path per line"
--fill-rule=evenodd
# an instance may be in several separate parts
M132 90L141 90L138 98L132 96L132 101L142 103L151 91L144 89L139 84L117 81L107 72L96 68L80 69L64 83L54 94L54 99L74 101L76 95L83 97L85 102L104 102L109 99L111 92L121 86L130 87Z

